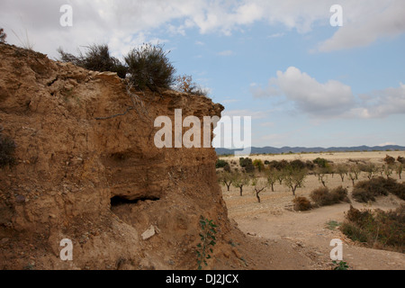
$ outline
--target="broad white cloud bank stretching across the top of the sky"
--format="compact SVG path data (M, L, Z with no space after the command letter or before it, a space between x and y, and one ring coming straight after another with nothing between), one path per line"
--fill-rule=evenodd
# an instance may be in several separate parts
M73 7L73 27L59 24L62 4ZM230 35L266 22L305 33L315 25L329 25L332 4L332 0L2 0L0 26L8 32L8 42L14 44L19 43L12 30L19 35L28 31L34 49L51 57L57 56L58 46L74 51L94 42L108 43L113 52L122 54L148 40L150 32L157 29L180 35L190 29ZM344 26L320 43L320 51L364 46L405 31L403 0L341 0L340 4Z

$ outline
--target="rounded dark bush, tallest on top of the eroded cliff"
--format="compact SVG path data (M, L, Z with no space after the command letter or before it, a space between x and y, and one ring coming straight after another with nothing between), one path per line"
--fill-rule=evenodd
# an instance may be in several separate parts
M175 67L160 45L143 44L139 49L132 49L125 57L130 74L130 83L136 89L168 89L175 83Z

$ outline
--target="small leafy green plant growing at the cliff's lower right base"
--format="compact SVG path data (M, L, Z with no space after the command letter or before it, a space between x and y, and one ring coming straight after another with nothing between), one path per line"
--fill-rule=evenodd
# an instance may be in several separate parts
M216 244L215 234L217 234L217 231L215 229L217 228L217 226L213 223L212 220L204 219L201 216L200 226L201 243L198 243L196 251L198 270L202 270L202 264L208 266L207 259L211 258L210 253L212 253L212 247L214 247Z

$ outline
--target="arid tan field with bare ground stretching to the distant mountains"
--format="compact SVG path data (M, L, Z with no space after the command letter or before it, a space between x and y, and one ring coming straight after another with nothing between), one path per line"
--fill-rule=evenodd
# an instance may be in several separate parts
M405 157L405 151L387 152L345 152L345 153L319 153L319 154L293 154L275 156L250 156L252 159L268 160L313 160L317 157L326 158L334 164L338 163L369 163L383 165L383 158L386 155L392 157ZM235 160L238 157L220 157L226 161ZM235 163L235 162L234 162ZM235 167L231 165L231 168ZM378 175L376 175L378 176ZM404 181L404 175L400 179L395 172L391 177L399 183ZM365 173L361 173L355 183L368 180ZM345 213L353 207L363 209L382 209L384 211L394 210L404 203L399 197L389 194L377 198L376 202L356 202L351 192L353 184L347 176L342 182L338 174L327 175L325 179L329 189L342 185L348 190L348 197L351 203L341 202L330 206L322 206L310 211L293 210L293 193L284 184L276 183L272 192L270 187L260 193L261 202L251 185L243 188L243 196L239 194L239 188L230 186L229 191L222 185L222 193L229 211L229 218L238 223L239 229L244 231L248 237L257 238L272 248L273 256L268 261L274 261L275 269L296 269L302 262L302 268L307 269L330 269L332 261L329 256L330 241L333 238L341 239L344 243L343 261L351 269L404 269L405 256L399 252L387 251L381 247L365 247L347 238L339 229L338 225L345 220ZM308 175L304 186L296 190L296 196L310 198L311 191L319 188L322 184L318 175ZM334 225L332 225L334 224ZM291 250L285 248L289 243ZM280 246L278 249L277 246ZM295 254L294 254L295 253ZM274 255L276 254L276 255ZM264 261L266 261L264 259Z

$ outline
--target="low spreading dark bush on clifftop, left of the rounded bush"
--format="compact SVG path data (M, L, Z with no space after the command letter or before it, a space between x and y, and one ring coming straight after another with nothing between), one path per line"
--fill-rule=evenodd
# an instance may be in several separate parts
M110 55L108 45L93 44L86 48L85 54L79 50L78 56L66 53L63 49L59 48L58 53L60 60L63 62L72 62L76 66L84 67L88 70L116 72L118 76L125 78L128 68L125 67L119 59L113 58Z

